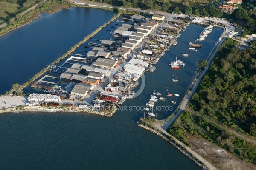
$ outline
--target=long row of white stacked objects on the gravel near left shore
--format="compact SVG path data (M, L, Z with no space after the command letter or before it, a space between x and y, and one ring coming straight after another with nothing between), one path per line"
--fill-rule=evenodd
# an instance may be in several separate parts
M28 101L61 101L60 96L56 96L53 94L38 94L33 93L28 96Z

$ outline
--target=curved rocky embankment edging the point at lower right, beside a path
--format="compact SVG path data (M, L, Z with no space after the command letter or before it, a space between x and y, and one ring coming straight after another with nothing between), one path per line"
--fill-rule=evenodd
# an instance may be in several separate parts
M174 147L176 147L180 152L182 152L184 155L186 155L189 159L191 159L193 162L195 162L195 164L197 164L199 167L201 167L203 170L208 170L207 167L205 167L204 165L202 165L201 163L199 163L193 156L191 156L189 153L187 153L185 150L181 149L179 146L177 146L177 144L175 144L174 142L172 142L170 139L166 138L166 136L163 136L160 132L157 132L156 130L151 129L150 127L147 127L145 125L141 125L138 124L138 126L143 127L146 130L149 130L153 133L155 133L156 135L160 136L161 138L163 138L164 140L166 140L167 142L169 142L170 144L172 144Z

